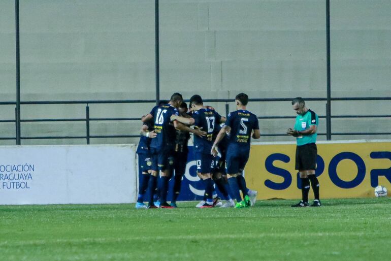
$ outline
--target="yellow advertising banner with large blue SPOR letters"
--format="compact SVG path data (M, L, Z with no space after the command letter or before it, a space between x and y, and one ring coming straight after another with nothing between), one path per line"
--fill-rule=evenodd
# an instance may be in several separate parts
M322 142L317 148L321 199L375 197L377 185L391 189L391 141ZM295 155L296 144L251 145L244 174L258 199L301 199Z

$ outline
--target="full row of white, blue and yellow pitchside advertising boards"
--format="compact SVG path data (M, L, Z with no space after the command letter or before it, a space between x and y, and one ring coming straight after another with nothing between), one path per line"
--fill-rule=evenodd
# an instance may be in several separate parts
M378 184L391 188L391 141L317 145L316 175L323 199L374 197ZM179 201L201 200L204 194L192 149L189 146ZM251 145L244 174L258 199L301 197L295 149L294 142ZM133 144L0 147L0 204L134 203L135 151Z

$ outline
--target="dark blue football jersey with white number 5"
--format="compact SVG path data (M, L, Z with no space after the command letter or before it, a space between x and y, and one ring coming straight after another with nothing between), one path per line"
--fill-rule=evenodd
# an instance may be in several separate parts
M225 125L231 127L230 144L237 144L250 149L251 133L253 129L259 129L255 114L247 110L231 112Z

